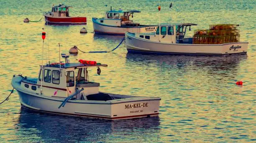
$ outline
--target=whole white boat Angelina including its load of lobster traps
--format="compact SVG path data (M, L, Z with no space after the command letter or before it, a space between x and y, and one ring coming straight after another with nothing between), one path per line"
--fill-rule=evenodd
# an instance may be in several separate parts
M125 33L128 52L154 54L231 55L246 54L248 42L240 42L239 25L210 25L186 37L187 28L196 24L161 24L152 33Z

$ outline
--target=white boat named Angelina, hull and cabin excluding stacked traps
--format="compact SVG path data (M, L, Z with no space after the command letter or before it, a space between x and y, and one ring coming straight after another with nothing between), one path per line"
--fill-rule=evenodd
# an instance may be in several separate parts
M190 30L192 25L195 24L160 25L160 32L158 26L156 32L152 33L126 32L125 43L127 50L133 53L155 54L246 54L248 42L193 44L192 37L185 37L187 27Z

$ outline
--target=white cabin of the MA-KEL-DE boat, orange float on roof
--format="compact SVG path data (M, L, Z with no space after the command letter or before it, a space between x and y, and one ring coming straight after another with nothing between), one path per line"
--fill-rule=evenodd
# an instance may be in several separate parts
M44 96L51 97L67 98L82 88L84 90L76 95L76 99L81 99L82 96L86 98L90 94L99 94L100 84L89 81L87 69L96 67L98 68L97 71L95 70L97 73L100 67L108 67L108 65L97 64L94 61L87 61L87 64L69 63L67 59L69 56L62 55L62 57L65 57L66 63L51 63L40 66L38 78L23 80L23 87L27 87L38 95L44 94Z

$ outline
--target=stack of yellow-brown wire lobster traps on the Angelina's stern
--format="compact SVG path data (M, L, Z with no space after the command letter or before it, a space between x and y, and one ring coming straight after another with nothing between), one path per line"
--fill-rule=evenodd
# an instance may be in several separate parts
M195 30L193 44L240 42L240 30L233 24L210 25L209 30Z

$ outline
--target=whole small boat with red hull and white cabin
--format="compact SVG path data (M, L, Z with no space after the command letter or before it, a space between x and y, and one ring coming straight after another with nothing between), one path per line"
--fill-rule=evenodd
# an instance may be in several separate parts
M86 24L86 17L70 17L69 7L59 4L53 6L50 12L44 12L45 22L48 24Z

